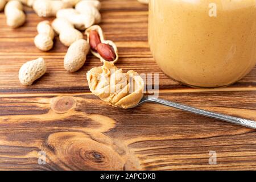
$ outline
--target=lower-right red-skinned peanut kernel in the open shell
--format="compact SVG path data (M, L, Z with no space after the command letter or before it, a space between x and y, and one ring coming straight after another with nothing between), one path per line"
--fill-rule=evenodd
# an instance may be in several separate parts
M117 57L115 55L114 49L109 44L100 43L97 46L97 52L101 55L101 57L107 61L114 61Z

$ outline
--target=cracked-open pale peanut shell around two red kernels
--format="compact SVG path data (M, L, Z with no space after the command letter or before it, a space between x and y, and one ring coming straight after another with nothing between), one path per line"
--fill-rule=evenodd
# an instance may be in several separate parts
M104 38L104 33L103 33L103 31L102 31L102 29L101 29L101 27L100 26L98 26L98 25L93 25L93 26L91 26L91 27L89 27L89 28L87 28L86 30L85 30L85 35L87 36L87 42L90 44L90 31L97 31L97 33L98 33L98 35L100 36L100 41L101 41L101 43L104 43L104 44L108 44L109 46L111 46L112 48L113 48L113 51L114 51L114 53L115 53L115 59L114 60L112 60L112 61L109 61L109 60L106 60L106 59L104 59L104 57L102 57L101 55L100 55L100 53L98 53L96 50L94 50L94 49L90 49L90 51L92 52L92 54L94 55L94 56L96 56L96 57L98 57L99 59L100 59L100 61L102 62L102 63L104 63L105 61L108 61L108 62L111 62L111 63L117 63L117 61L118 61L118 50L117 50L117 46L115 45L115 43L114 42L112 42L111 40L105 40L105 38Z

